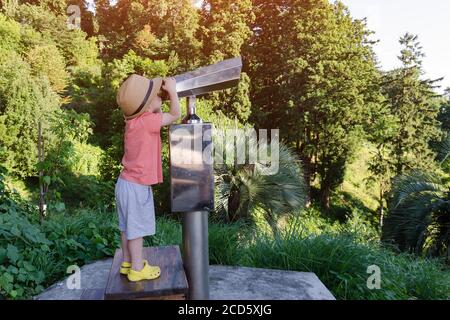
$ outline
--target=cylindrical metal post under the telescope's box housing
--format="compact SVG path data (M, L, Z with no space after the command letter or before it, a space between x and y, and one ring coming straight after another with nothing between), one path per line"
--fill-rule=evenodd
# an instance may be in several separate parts
M208 212L183 214L183 261L189 283L188 299L209 299Z

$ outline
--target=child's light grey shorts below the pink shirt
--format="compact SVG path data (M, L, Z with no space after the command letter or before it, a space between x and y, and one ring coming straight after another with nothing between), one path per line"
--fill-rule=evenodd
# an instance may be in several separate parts
M155 205L151 186L118 178L115 188L119 229L128 240L155 234Z

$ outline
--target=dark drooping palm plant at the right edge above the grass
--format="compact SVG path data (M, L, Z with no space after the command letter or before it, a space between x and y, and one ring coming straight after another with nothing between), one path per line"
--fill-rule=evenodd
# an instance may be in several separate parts
M392 190L382 240L401 251L448 255L448 181L437 174L415 170L394 179Z

